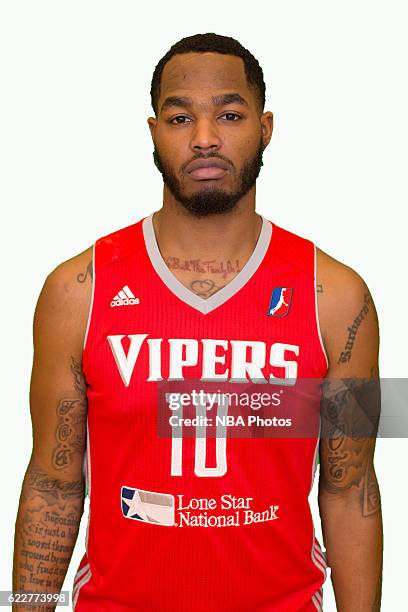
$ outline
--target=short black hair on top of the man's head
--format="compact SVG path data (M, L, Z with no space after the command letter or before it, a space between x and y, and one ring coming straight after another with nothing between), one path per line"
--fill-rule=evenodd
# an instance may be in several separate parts
M245 49L240 42L235 40L235 38L231 38L230 36L221 36L220 34L214 34L214 32L208 32L207 34L194 34L193 36L187 36L186 38L182 38L178 42L174 43L174 45L170 47L170 49L155 67L150 88L150 98L156 117L158 114L161 76L163 68L169 59L173 57L173 55L182 53L208 52L222 53L224 55L235 55L242 58L248 85L256 88L259 104L263 112L265 107L265 81L263 71L258 60L250 51L248 51L248 49Z

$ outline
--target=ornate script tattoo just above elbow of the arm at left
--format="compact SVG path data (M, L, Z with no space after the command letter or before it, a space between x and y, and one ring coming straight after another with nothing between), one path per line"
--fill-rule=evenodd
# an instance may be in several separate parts
M74 377L76 399L61 399L57 406L58 422L55 432L57 446L53 451L52 463L57 470L71 465L76 453L84 448L84 430L87 413L86 382L81 366L71 356L71 372Z

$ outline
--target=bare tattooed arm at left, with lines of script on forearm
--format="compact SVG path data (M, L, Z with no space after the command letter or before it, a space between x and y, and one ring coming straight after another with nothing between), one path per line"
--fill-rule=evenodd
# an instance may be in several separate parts
M15 526L13 591L59 592L83 513L86 381L82 351L92 249L46 279L34 315L30 385L33 448ZM13 610L27 608L13 607ZM55 605L31 607L53 610Z

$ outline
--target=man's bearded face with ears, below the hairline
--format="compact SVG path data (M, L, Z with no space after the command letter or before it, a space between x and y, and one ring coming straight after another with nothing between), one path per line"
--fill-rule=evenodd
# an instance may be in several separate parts
M165 185L197 217L232 210L253 187L272 134L242 59L219 53L173 56L148 123Z

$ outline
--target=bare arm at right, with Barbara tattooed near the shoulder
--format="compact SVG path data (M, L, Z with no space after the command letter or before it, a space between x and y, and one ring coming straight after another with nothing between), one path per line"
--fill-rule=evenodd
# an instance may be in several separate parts
M318 250L323 381L319 510L339 612L381 607L383 532L374 469L380 410L379 331L367 285Z

